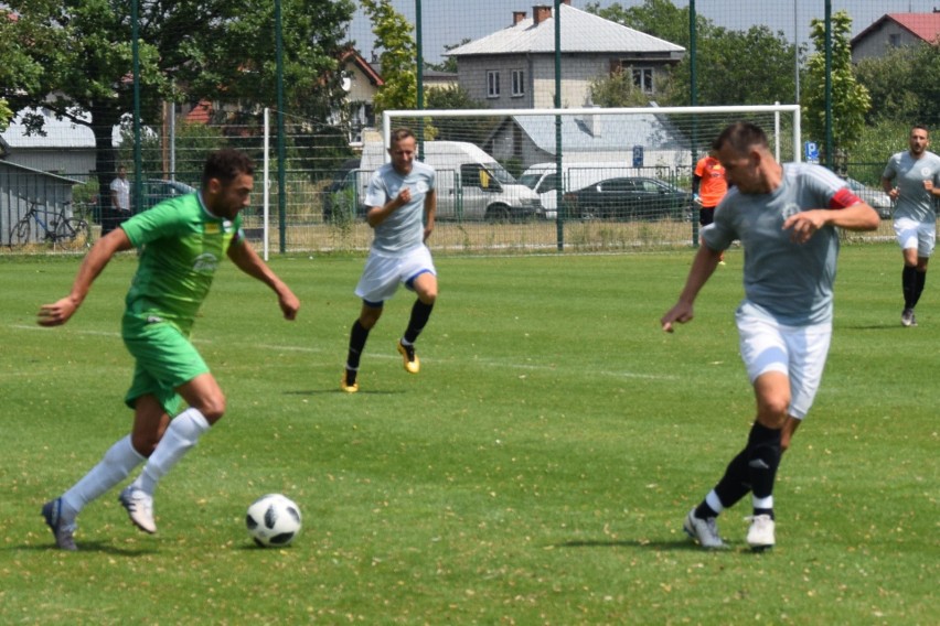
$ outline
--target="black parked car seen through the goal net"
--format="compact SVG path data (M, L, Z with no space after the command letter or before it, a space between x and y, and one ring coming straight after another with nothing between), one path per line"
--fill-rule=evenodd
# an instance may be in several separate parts
M692 218L693 195L659 179L621 176L606 179L565 194L569 217L581 219Z

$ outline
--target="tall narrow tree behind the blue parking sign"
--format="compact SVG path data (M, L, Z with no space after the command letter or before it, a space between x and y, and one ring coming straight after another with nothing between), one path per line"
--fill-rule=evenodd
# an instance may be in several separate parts
M810 56L807 88L803 90L803 120L807 136L819 141L825 138L825 22L812 20L811 37L816 52ZM872 107L868 90L855 79L848 36L852 18L842 10L832 15L832 136L833 144L843 155L856 144L865 128L865 114ZM832 155L834 156L834 155Z

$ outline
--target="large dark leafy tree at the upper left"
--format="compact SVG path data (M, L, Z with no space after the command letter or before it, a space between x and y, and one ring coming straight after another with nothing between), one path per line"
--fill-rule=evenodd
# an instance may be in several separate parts
M111 129L133 109L132 24L120 0L8 0L13 41L41 69L29 89L8 95L15 110L36 106L95 133L100 196L116 151ZM163 100L276 104L274 3L183 0L139 4L141 121ZM287 101L324 109L342 96L338 71L350 0L282 0ZM9 45L9 44L7 44ZM4 56L6 63L6 56ZM42 118L25 120L41 132Z

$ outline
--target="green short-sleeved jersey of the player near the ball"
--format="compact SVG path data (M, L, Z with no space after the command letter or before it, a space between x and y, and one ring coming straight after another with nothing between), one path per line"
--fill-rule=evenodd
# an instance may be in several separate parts
M194 193L161 202L120 227L142 249L127 292L127 313L170 322L189 335L218 263L241 233L242 218L212 215Z

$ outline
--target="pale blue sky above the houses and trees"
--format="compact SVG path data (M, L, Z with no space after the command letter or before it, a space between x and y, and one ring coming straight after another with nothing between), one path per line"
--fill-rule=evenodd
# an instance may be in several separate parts
M572 0L572 6L584 10L590 0ZM532 17L533 4L554 6L554 0L421 0L425 58L441 60L444 47L461 40L479 39L512 23L513 11L525 11ZM643 3L642 0L600 0L601 7L619 3L629 8ZM832 11L846 9L852 15L853 35L857 34L885 13L930 12L940 7L937 0L831 0ZM393 0L395 10L414 23L415 0ZM687 0L676 0L685 7ZM813 18L822 18L824 0L696 0L698 14L716 24L733 30L747 30L755 24L765 24L773 31L782 31L792 40L793 32L800 43L809 39L809 24ZM795 17L795 19L794 19ZM797 26L794 29L794 25ZM563 24L564 28L564 24ZM368 58L374 35L368 19L360 10L350 28L350 39L356 41L360 52Z

